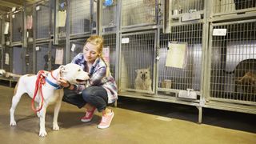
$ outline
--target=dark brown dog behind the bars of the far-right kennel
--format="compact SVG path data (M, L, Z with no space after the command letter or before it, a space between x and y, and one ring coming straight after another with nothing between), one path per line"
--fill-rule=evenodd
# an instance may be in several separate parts
M234 92L238 92L239 87L243 92L256 93L256 59L242 60L233 71L224 70L224 72L234 74Z

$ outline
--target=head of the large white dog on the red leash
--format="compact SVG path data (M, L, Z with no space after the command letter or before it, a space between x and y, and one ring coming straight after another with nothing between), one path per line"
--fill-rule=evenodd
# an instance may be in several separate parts
M88 73L82 70L82 66L74 63L59 66L59 69L61 77L71 84L85 84L86 80L90 79Z

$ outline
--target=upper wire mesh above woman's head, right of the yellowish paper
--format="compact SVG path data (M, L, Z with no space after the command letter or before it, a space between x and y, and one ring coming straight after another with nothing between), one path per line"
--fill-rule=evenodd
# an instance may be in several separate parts
M90 32L90 0L70 1L70 34Z

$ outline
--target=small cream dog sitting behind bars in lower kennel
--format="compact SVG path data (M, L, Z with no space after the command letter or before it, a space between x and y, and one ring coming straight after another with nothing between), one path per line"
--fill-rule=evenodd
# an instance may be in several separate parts
M136 90L150 90L152 91L150 78L150 68L135 70L137 76L135 78L134 86Z

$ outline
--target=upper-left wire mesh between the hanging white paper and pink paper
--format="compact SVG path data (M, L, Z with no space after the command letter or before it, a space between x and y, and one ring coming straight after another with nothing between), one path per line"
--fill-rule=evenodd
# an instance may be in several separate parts
M22 42L22 11L12 14L12 42Z

